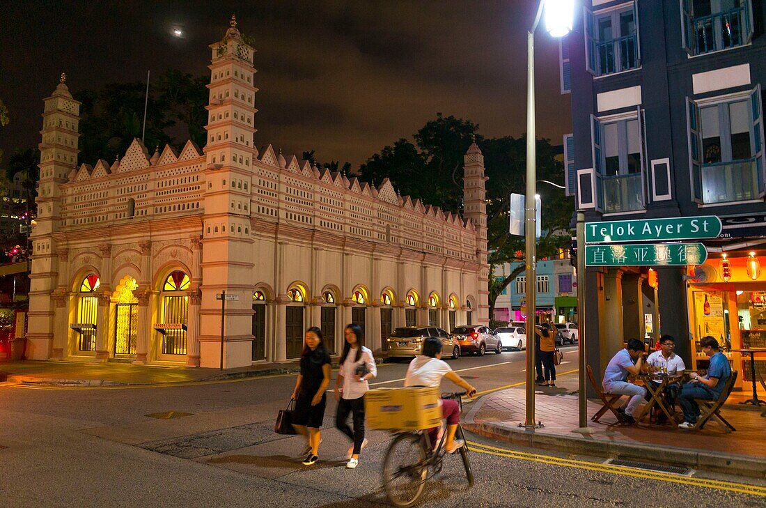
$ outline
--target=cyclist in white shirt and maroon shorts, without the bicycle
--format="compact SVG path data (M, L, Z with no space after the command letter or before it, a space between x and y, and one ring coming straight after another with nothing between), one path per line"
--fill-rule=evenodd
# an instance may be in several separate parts
M416 356L410 362L407 375L404 376L404 386L438 387L443 377L447 377L451 382L465 388L469 397L476 395L476 388L473 388L460 375L453 372L447 362L441 360L441 340L437 337L428 337L423 342L423 354ZM460 423L460 406L457 405L457 401L443 398L441 415L447 420L447 440L444 447L448 454L453 454L466 444L462 439L455 439L457 424ZM438 427L428 429L428 437L434 447L438 444L438 433Z

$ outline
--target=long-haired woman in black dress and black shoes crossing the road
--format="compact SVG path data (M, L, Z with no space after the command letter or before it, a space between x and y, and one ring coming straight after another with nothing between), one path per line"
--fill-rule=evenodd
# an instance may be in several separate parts
M306 330L303 352L300 356L300 374L291 398L296 401L293 410L293 428L306 438L306 460L310 466L319 459L319 428L325 417L325 391L330 384L330 356L322 341L322 330L316 326Z

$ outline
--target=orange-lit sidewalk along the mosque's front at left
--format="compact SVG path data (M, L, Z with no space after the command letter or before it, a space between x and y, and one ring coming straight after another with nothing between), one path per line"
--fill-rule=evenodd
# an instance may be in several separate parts
M378 362L382 359L376 357ZM337 359L333 359L336 368ZM257 363L237 369L203 369L180 365L133 365L127 362L0 362L0 383L51 386L127 386L219 381L298 372L298 360Z

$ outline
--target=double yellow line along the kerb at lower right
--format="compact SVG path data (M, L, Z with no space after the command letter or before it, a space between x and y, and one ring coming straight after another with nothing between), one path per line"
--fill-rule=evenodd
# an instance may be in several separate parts
M480 454L496 455L497 457L507 457L517 460L528 460L530 462L539 462L561 467L573 467L575 469L584 469L596 471L599 473L618 474L627 477L646 478L648 480L664 481L669 483L679 483L690 485L692 487L706 487L709 489L728 490L729 492L745 493L752 496L766 497L766 487L758 485L748 485L747 483L734 483L722 480L707 480L705 478L683 477L667 473L654 473L652 471L640 471L629 467L613 466L611 464L600 464L589 462L587 460L565 459L560 457L542 457L538 454L529 454L522 451L509 450L508 448L493 447L489 444L471 442L468 449Z

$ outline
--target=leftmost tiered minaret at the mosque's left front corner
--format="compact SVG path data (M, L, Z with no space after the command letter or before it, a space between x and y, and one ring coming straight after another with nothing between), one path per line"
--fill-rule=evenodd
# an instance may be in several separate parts
M77 166L77 139L80 123L80 103L72 98L67 88L67 77L61 74L61 82L51 97L44 99L43 129L40 131L40 181L38 182L37 225L32 229L32 266L29 289L30 342L27 356L30 359L47 359L61 351L53 349L54 306L51 292L57 285L68 280L46 274L59 273L59 253L53 234L61 225L61 188L67 176Z

